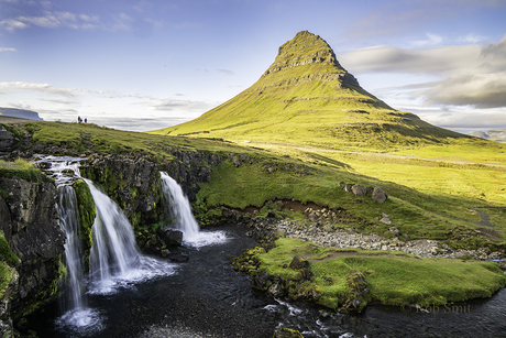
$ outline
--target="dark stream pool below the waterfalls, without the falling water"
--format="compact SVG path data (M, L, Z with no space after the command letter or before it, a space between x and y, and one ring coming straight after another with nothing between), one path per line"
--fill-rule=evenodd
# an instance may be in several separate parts
M396 308L370 305L356 316L274 299L251 288L250 279L229 268L230 255L255 242L245 228L224 225L229 240L189 254L176 273L125 285L112 295L90 295L89 306L101 316L100 327L82 331L58 328L57 304L29 318L38 337L272 337L277 326L305 337L505 337L506 290L490 299L449 308ZM459 307L453 307L459 305ZM150 330L151 328L151 330ZM178 336L178 332L190 332Z

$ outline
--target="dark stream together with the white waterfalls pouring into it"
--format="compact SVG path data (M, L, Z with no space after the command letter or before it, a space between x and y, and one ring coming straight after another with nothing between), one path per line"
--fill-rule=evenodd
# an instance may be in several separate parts
M172 185L172 178L165 176L163 182ZM88 184L94 198L97 194L100 200L94 236L114 247L114 239L107 235L109 230L103 229L107 228L103 223L112 221L113 227L124 227L117 235L118 240L131 243L124 215L101 196L102 193L95 190L91 183ZM172 198L174 205L177 205L175 199L184 197L173 190L169 195L167 198ZM66 201L67 197L62 198L59 208L67 209L68 206L72 209L73 203ZM194 228L193 221L188 226L184 220L188 211L179 208L186 206L172 212L177 215L176 227L184 231L186 239L185 246L175 253L188 254L187 262L175 264L148 258L130 244L121 249L128 252L124 259L112 254L110 248L97 249L108 259L92 269L89 279L85 277L88 292L84 297L68 301L84 313L77 316L80 321L76 316L72 317L73 310L68 308L62 316L55 303L29 318L31 328L38 337L272 337L278 326L298 329L306 338L505 336L505 290L490 299L450 304L448 307L416 309L370 305L355 316L316 308L305 302L272 298L252 290L248 276L229 268L230 255L239 255L242 249L255 244L245 236L248 229L229 223L216 227L213 231L200 231L198 225ZM189 205L187 208L190 210ZM114 220L108 220L110 217ZM67 240L66 246L70 248L70 243ZM72 260L79 261L69 257L66 258L67 264ZM76 291L77 294L82 294L79 286L76 290L80 290Z

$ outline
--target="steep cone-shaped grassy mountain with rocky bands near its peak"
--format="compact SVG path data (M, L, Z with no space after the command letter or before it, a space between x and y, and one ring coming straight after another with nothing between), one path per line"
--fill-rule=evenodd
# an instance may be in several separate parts
M246 90L195 120L151 133L355 150L471 139L377 99L339 64L323 39L307 31L283 44Z

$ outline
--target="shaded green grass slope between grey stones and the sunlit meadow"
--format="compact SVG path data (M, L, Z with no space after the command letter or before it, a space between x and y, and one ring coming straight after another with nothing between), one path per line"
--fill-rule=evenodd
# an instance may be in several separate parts
M204 209L221 205L233 208L248 206L262 207L270 200L296 199L302 204L316 203L330 209L343 209L343 216L336 227L353 227L362 233L377 233L392 237L389 227L380 222L377 217L385 212L391 216L394 225L406 233L405 239L437 239L460 241L475 238L474 222L480 216L472 208L490 208L493 205L481 199L448 194L428 194L393 182L381 181L352 172L350 167L322 166L300 163L294 159L282 157L275 162L270 159L244 163L235 167L231 160L223 161L215 168L211 182L201 184L198 193L199 204ZM267 167L276 167L273 173ZM307 166L301 176L295 167ZM384 205L378 205L370 197L355 197L345 193L339 183L382 186L389 196ZM198 210L198 208L197 208ZM505 227L501 208L491 208L494 225L498 230ZM199 216L199 215L197 215ZM296 215L294 215L296 217ZM380 217L381 218L381 217ZM506 230L506 229L504 229ZM472 244L474 249L488 242L504 243L504 235L498 238L486 238Z

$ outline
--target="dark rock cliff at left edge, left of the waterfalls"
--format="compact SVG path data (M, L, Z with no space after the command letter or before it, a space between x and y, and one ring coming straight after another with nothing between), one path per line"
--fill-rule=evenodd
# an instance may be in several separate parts
M10 313L18 317L56 296L65 236L57 221L53 183L3 177L0 190L0 230L21 260L10 296Z

